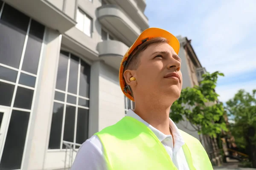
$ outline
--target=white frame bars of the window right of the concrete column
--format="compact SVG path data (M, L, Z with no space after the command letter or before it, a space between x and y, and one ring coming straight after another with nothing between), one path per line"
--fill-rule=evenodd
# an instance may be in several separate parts
M63 141L64 141L64 125L65 125L65 116L66 116L66 108L67 108L67 105L68 106L73 106L73 107L76 107L76 113L75 113L75 126L74 126L74 141L73 143L75 144L78 144L76 143L76 128L77 128L77 117L78 117L78 108L82 108L82 109L87 109L88 110L88 114L90 115L90 91L89 91L89 98L87 97L84 97L84 96L80 96L79 95L79 86L80 86L80 70L81 70L81 60L83 60L83 62L85 62L86 64L88 64L90 66L90 71L91 71L91 65L92 63L87 60L87 59L84 59L84 57L81 57L79 55L77 55L75 52L73 52L72 50L70 49L67 49L67 48L63 48L61 47L60 49L61 51L65 51L69 54L68 56L68 65L67 65L67 77L66 77L66 86L65 86L65 91L63 90L59 90L56 88L56 84L55 84L55 88L54 88L54 95L53 95L53 99L52 99L52 112L53 113L53 108L54 108L54 104L55 102L56 103L60 103L60 104L63 104L64 105L64 108L63 108L63 116L62 116L62 120L61 120L61 123L62 123L62 126L61 126L61 141L60 141L60 148L58 149L49 149L49 144L48 144L48 147L47 147L47 150L48 151L63 151L63 150L66 150L66 148L63 148ZM61 54L61 51L59 52ZM76 89L76 94L73 94L73 93L70 93L68 92L68 83L69 83L69 72L70 72L70 59L71 59L71 54L75 57L78 57L79 58L79 65L78 65L78 75L77 75L77 89ZM58 67L56 69L56 75L58 74ZM55 83L57 82L57 76L55 78ZM90 85L91 85L91 82L89 84L89 88L90 88ZM62 94L65 95L65 99L64 99L64 102L63 101L60 101L60 100L56 100L55 99L55 91L57 92L60 92ZM67 95L70 95L70 96L75 96L76 97L76 104L72 104L72 103L68 103L67 102ZM81 106L79 105L79 98L81 99L85 99L87 101L89 101L89 105L88 107L85 107L85 106ZM86 113L84 113L86 114ZM89 120L87 122L88 126L89 126ZM50 132L49 132L50 133ZM50 136L50 134L49 134ZM78 150L79 148L76 148L76 146L73 146L75 150Z

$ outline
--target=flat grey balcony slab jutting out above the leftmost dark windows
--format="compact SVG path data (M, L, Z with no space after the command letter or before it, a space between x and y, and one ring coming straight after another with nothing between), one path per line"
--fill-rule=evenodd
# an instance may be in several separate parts
M45 26L64 33L76 25L76 21L47 0L4 0L9 5L32 16Z

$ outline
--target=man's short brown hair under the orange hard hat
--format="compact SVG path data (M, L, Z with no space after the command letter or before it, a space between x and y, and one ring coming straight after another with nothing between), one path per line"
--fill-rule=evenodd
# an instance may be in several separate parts
M151 38L134 49L134 51L131 53L129 58L131 57L131 60L128 62L128 65L125 70L135 70L138 67L138 64L140 62L139 60L139 55L141 52L145 51L145 49L148 48L149 45L154 44L154 43L168 43L169 41L166 38L163 37L155 37ZM125 71L124 70L124 71Z

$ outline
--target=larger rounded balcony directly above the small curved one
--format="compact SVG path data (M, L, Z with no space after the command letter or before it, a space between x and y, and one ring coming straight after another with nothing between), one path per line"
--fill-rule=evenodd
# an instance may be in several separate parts
M104 5L97 11L99 22L125 44L132 45L140 35L140 28L118 6Z

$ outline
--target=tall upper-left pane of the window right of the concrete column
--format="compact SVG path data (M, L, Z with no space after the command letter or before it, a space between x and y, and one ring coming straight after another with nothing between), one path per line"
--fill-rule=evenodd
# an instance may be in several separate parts
M68 55L67 52L61 51L58 63L56 88L62 91L66 88Z

